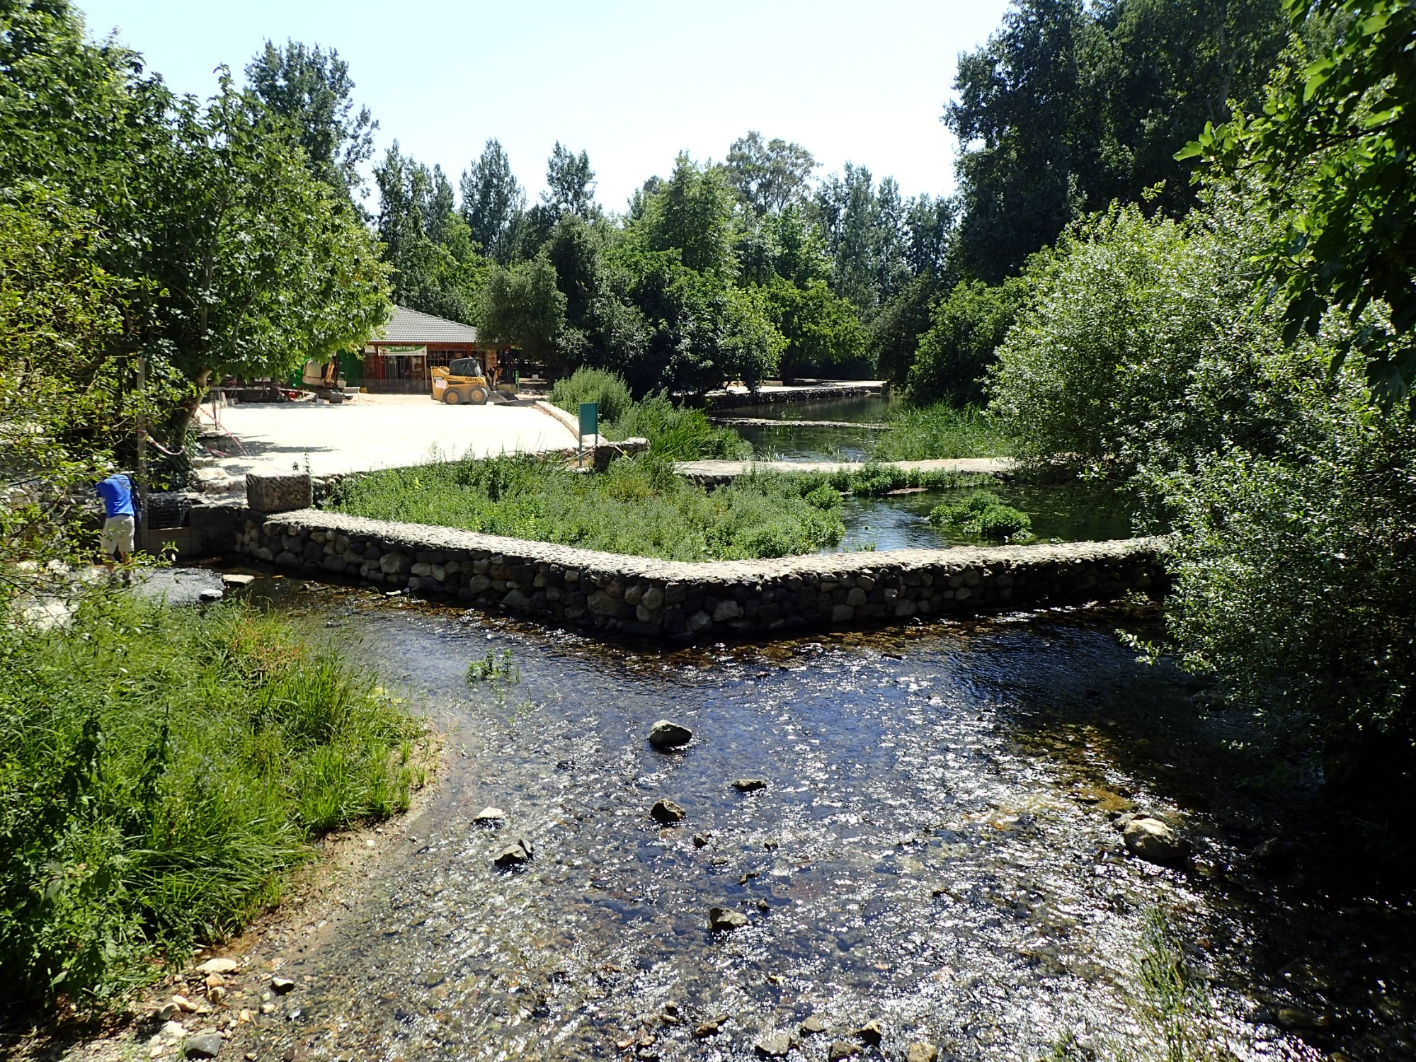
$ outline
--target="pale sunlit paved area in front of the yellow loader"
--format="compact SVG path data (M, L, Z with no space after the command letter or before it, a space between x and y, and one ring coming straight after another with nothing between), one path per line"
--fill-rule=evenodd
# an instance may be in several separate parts
M353 402L259 402L218 411L227 438L207 443L215 464L244 481L248 472L331 476L443 457L539 453L575 445L555 418L531 405L443 405L423 395L360 395ZM212 429L211 408L201 423ZM234 438L231 438L234 436Z

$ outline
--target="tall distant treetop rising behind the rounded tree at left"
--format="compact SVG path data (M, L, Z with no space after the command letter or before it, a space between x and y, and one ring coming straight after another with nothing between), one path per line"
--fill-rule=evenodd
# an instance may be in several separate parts
M350 194L362 184L358 167L374 157L378 122L368 108L355 110L348 64L334 48L266 41L246 67L246 81L273 113L295 123L316 177Z

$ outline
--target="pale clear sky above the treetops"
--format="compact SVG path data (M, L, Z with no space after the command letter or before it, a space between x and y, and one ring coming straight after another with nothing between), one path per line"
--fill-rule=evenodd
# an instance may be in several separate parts
M266 38L337 48L358 102L453 181L497 137L532 197L555 140L586 149L598 198L623 210L674 156L722 159L749 129L806 146L817 174L851 160L906 195L953 188L939 122L960 51L1007 0L457 3L76 0L89 33L143 52L178 92L210 93Z

